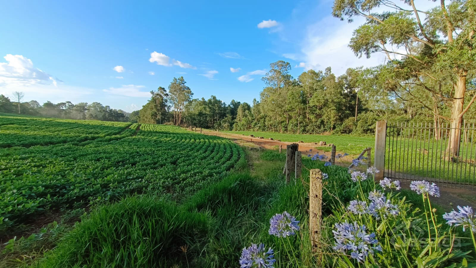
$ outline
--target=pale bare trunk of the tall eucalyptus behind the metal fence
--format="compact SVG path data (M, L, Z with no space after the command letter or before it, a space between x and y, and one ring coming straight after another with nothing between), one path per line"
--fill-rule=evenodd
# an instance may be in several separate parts
M460 71L456 84L454 84L455 95L451 107L451 130L446 151L449 154L458 156L461 139L461 122L463 121L463 104L466 93L467 71Z

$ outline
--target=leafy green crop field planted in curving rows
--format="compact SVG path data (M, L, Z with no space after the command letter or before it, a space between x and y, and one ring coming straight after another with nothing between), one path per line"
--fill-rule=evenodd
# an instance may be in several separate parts
M0 114L0 230L99 199L176 196L246 161L228 139L175 126L138 127Z

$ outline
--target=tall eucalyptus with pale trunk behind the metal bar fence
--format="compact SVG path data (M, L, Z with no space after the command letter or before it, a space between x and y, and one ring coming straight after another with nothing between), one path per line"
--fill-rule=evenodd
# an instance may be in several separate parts
M474 76L476 67L476 1L440 0L430 10L418 9L414 0L400 3L335 0L332 14L349 22L355 17L366 19L354 31L349 46L359 57L368 58L374 52L387 56L381 75L389 90L407 92L412 101L433 110L414 93L426 90L449 106L449 117L436 116L450 121L447 150L458 155L462 118L476 100L473 93L465 104L468 76Z

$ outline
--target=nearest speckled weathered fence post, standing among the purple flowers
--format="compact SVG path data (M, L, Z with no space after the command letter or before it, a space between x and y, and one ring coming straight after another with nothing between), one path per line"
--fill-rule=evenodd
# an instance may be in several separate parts
M314 251L318 250L321 238L322 172L311 169L309 175L309 233Z

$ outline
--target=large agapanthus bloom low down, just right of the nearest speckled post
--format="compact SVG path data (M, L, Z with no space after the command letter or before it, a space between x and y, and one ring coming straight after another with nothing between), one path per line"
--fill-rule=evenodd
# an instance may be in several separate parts
M353 224L348 222L336 223L336 229L332 230L336 239L334 250L347 253L358 262L364 261L368 255L374 254L375 250L382 251L375 233L367 234L365 225L359 226L357 221Z

